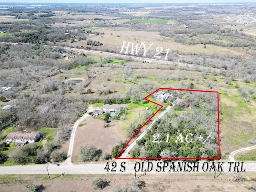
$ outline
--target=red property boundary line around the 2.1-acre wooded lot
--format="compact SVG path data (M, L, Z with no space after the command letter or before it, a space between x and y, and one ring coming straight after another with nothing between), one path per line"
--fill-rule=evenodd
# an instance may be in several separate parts
M121 158L118 157L120 156L120 154L122 154L122 152L124 151L124 149L126 148L126 146L128 146L128 144L130 143L130 141L135 137L136 134L138 134L138 132L155 116L155 114L158 113L158 111L160 109L162 109L162 105L158 104L154 101L148 100L147 98L149 96L151 96L152 94L154 94L155 92L159 91L160 89L164 89L164 90L177 90L177 91L194 91L194 92L208 92L208 93L216 93L217 94L217 105L218 105L218 157L216 158ZM138 131L136 131L136 133L134 133L134 135L132 136L132 138L130 138L130 140L128 140L128 142L125 144L125 146L122 148L122 150L118 153L118 155L115 157L115 159L151 159L151 160L161 160L161 159L172 159L172 160L185 160L185 159L194 159L194 160L219 160L220 159L220 113L219 113L219 92L218 91L206 91L206 90L191 90L191 89L175 89L175 88L158 88L157 90L155 90L154 92L150 93L148 96L144 97L144 100L147 100L149 102L152 102L158 106L160 106L160 108L138 129Z

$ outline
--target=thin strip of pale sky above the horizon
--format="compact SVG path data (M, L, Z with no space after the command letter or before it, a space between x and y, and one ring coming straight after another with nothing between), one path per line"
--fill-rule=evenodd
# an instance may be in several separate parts
M2 2L28 3L236 3L256 0L1 0ZM1 4L1 3L0 3Z

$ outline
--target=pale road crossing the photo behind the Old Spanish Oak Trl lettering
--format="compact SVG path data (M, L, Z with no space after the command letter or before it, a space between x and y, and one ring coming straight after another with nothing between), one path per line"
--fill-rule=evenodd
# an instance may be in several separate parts
M117 162L117 166L116 166L116 172L113 172L114 174L134 174L134 166L135 166L135 162L126 162L125 160L116 160L115 162ZM125 167L126 170L125 172L120 172L121 169L121 162L126 162ZM138 161L141 162L141 161ZM144 162L144 168L145 166L147 166L148 162ZM158 161L152 161L153 163L153 170L152 172L149 172L149 174L155 174L158 173L156 172L156 169L159 170L159 168L157 168L157 163ZM176 164L177 162L175 162ZM200 173L203 172L202 170L202 165L203 165L204 161L199 162L199 169L198 171ZM212 165L212 162L208 162L209 167L208 170L210 169L210 166ZM218 162L215 162L216 167L218 167ZM106 170L104 170L106 166L106 162L105 163L91 163L91 164L80 164L80 165L74 165L74 164L70 164L70 165L63 165L61 164L60 166L56 166L56 165L24 165L24 166L0 166L0 173L1 175L4 174L47 174L47 170L46 167L48 167L48 171L49 174L105 174ZM138 164L137 164L138 166ZM163 162L161 164L161 166L163 166ZM233 165L232 165L233 167ZM231 167L231 168L232 168ZM111 166L111 162L110 162L110 169L112 169ZM138 168L138 167L137 167ZM177 168L177 166L176 166ZM206 168L206 165L205 165ZM224 172L228 172L229 170L229 165L227 162L224 162L222 165L223 171ZM159 172L158 174L171 174L170 172L168 172L168 170L170 169L170 164L169 166L166 168L165 172ZM241 166L239 167L239 170L241 169ZM255 162L245 162L243 164L243 169L246 170L246 172L256 172L256 163ZM234 168L231 169L231 171L233 172ZM188 173L188 172L186 172ZM192 173L192 172L190 172ZM148 172L147 172L148 174ZM214 177L214 172L212 171L212 177Z

